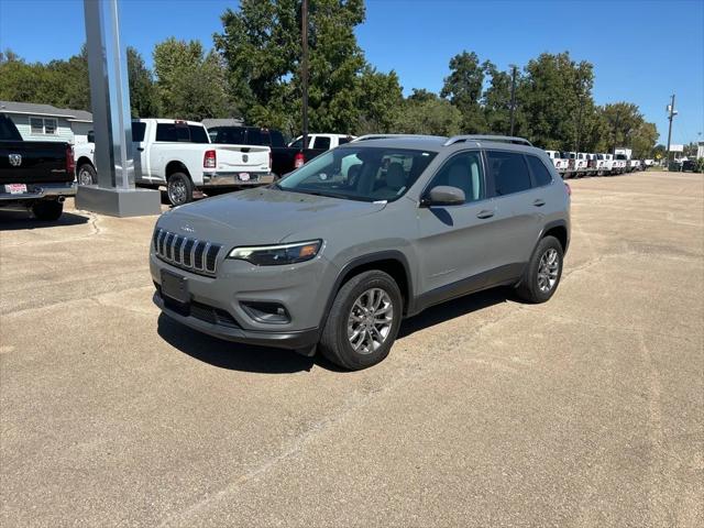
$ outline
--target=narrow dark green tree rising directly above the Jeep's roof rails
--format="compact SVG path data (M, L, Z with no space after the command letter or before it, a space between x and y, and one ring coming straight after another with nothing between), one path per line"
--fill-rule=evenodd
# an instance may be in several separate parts
M480 64L474 52L462 52L450 59L450 75L444 78L440 97L448 99L460 110L462 129L466 133L486 130L480 102L487 67L488 63Z

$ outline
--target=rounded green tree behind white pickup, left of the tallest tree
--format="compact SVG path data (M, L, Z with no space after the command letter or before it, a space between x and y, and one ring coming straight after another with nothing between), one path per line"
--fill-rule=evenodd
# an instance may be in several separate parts
M154 47L156 91L163 113L200 121L233 113L219 56L198 41L169 37Z

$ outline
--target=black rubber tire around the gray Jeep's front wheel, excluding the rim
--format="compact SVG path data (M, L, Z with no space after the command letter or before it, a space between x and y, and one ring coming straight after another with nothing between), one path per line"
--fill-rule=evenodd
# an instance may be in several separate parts
M392 320L388 332L378 348L364 353L355 351L352 346L348 337L348 321L358 299L370 289L381 289L388 296L392 306ZM334 298L320 337L320 351L332 363L350 371L375 365L388 355L396 340L403 309L403 297L398 285L388 274L373 270L352 277L340 288ZM364 339L366 338L363 337L363 341Z

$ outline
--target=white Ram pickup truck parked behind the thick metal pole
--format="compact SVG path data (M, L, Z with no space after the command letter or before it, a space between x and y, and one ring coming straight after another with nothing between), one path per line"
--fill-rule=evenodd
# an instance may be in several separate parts
M76 178L80 185L97 183L95 144L75 145ZM165 186L168 200L179 206L198 193L237 190L271 184L271 148L257 145L212 144L201 123L173 119L132 122L135 183Z

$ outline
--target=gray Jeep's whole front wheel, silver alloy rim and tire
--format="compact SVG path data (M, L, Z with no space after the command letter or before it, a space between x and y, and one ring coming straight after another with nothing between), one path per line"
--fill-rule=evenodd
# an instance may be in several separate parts
M398 334L403 299L386 273L370 271L345 283L334 298L320 350L343 369L359 371L388 355Z

